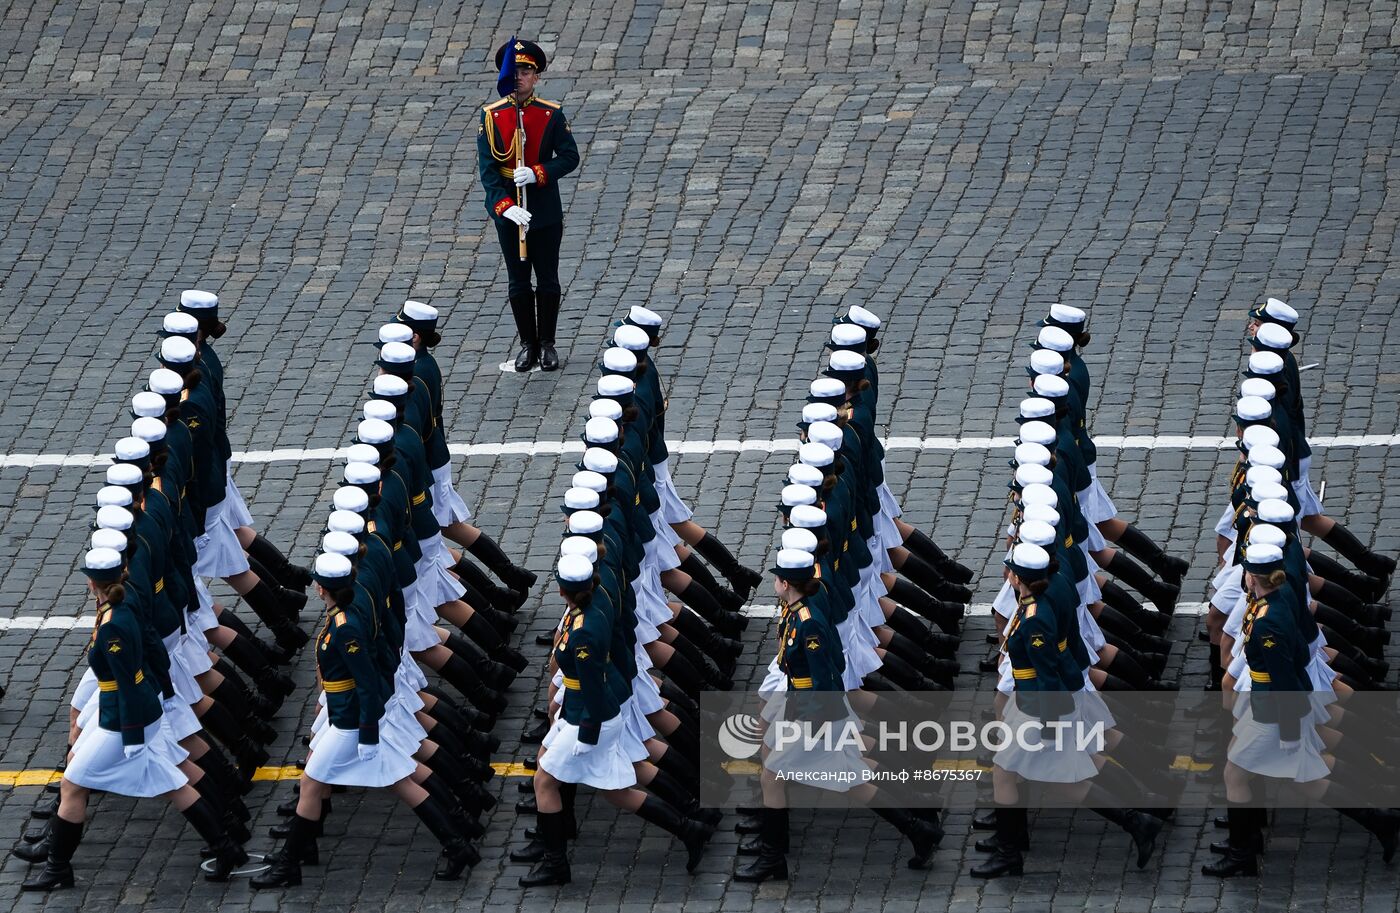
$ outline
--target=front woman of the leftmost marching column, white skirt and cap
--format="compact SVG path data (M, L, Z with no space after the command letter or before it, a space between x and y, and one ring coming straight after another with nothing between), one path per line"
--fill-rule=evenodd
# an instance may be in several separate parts
M141 625L130 606L123 605L122 555L92 549L84 556L83 573L97 602L97 622L88 641L88 664L98 682L97 724L84 728L73 745L59 786L59 811L50 819L49 858L22 888L73 886L73 853L83 839L92 790L168 800L214 851L214 867L204 877L227 881L248 854L230 840L218 812L190 786L190 779L202 774L161 725L161 699L141 651Z

